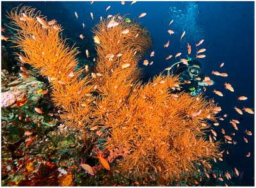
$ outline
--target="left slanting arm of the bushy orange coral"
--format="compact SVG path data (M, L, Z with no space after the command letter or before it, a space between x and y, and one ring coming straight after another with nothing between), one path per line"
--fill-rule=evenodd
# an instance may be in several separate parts
M29 20L22 20L22 17ZM49 25L48 29L36 20L44 18L35 8L24 6L13 9L8 14L12 20L10 25L17 34L13 41L20 48L17 59L22 63L31 64L39 69L43 76L47 76L52 83L52 100L63 110L61 119L67 121L68 126L83 129L90 122L92 101L95 99L93 85L87 76L80 78L82 70L75 71L77 65L76 48L69 48L60 35L60 24ZM58 28L57 27L57 28ZM61 28L61 27L60 27Z

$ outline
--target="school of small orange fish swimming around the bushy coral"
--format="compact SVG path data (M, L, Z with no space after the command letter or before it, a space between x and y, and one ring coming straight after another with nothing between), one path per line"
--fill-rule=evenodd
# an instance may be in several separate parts
M93 3L94 3L94 1L92 1L90 4L93 4ZM136 1L132 1L132 2L131 2L131 5L134 4L134 3L136 3ZM125 4L125 1L121 1L121 4L124 5L124 4ZM108 11L109 8L111 8L111 6L108 6L108 7L106 8L106 11ZM138 16L138 18L145 17L146 15L147 15L147 13L143 12L143 13L141 13L141 14ZM78 13L77 13L77 12L75 12L75 16L76 16L76 18L78 18ZM93 13L92 13L92 12L90 13L90 16L91 16L91 18L92 18L92 20L93 20L94 17L93 17ZM108 15L108 18L110 18L110 17L112 17L112 15ZM122 18L122 17L120 17L120 18ZM25 13L23 13L23 14L22 14L22 17L20 17L20 20L24 20L24 21L27 22L27 21L29 21L29 20L33 20L33 18L29 18L28 15L26 15ZM43 18L40 18L40 17L36 17L36 20L37 20L37 21L42 25L42 27L44 27L45 29L49 28L48 25L56 24L56 20L51 20L51 21L49 21L49 22L46 22ZM102 20L102 17L100 17L100 20ZM173 20L170 21L169 26L171 26L172 23L173 23ZM109 24L108 24L108 29L111 28L111 27L116 27L116 26L118 26L118 22L115 22L115 20L111 20L111 21L109 22ZM84 27L85 27L85 25L84 25L84 23L83 23L83 28L84 28ZM54 25L53 28L54 28L54 29L57 29L57 30L60 30L60 29L61 29L58 25ZM1 31L2 31L2 33L4 33L4 28L2 28ZM189 31L187 31L187 32L189 32ZM121 34L127 34L127 33L129 33L129 30L128 30L128 29L125 29L124 31L122 31ZM175 33L173 30L171 30L171 29L168 29L167 33L169 34L169 36L172 36L173 34L176 34L176 33ZM185 34L186 34L186 31L183 31L183 33L182 33L181 36L180 36L180 41L182 41L182 38L185 36ZM138 35L137 35L136 37L138 37ZM79 38L81 38L81 40L83 40L83 39L84 39L83 34L80 34L80 35L79 35ZM33 39L35 40L35 36L33 36ZM1 34L1 40L8 41L8 38L4 37L4 36ZM100 43L100 38L99 38L99 36L95 36L95 37L93 38L93 40L94 40L95 43L98 43L98 44ZM198 43L195 44L195 47L199 47L200 45L202 45L203 42L204 42L204 40L198 41ZM190 55L190 54L191 54L191 45L189 45L188 42L187 42L187 44L188 44L188 55ZM166 42L166 44L164 44L163 46L164 46L164 48L168 48L169 45L170 45L170 40L168 40L168 41ZM205 52L205 50L206 50L205 48L200 48L200 49L196 49L196 50L197 50L197 51L196 51L196 58L204 58L204 57L205 57L204 54L201 54L202 52ZM134 55L135 55L135 54L136 54L136 52L134 52ZM121 55L122 55L122 54L118 54L118 55L116 55L116 56L117 56L117 57L120 57ZM150 53L150 57L153 57L154 55L155 55L155 52L154 52L154 51ZM175 58L180 57L180 55L182 55L182 53L181 53L181 52L178 52L178 53L175 55ZM86 57L87 57L87 58L90 57L88 50L86 50ZM114 55L113 55L113 54L108 54L106 57L109 59L109 61L111 61L111 60L113 60ZM166 57L166 60L171 59L172 57L173 57L173 55L168 55L168 57ZM19 59L20 59L20 61L22 61L22 62L26 62L26 58L25 58L25 57L20 56ZM93 61L95 61L95 58L93 59ZM187 61L186 59L180 59L180 61L183 62L184 64L188 65L188 61ZM145 59L145 60L143 61L143 65L147 66L148 64L152 65L152 64L153 64L153 61L151 61L151 62L149 63L149 61L148 61L147 59ZM127 68L127 67L129 67L129 66L130 66L129 63L122 64L122 69ZM179 66L179 64L178 64L178 66ZM224 62L222 62L222 63L220 64L220 68L222 68L223 66L224 66ZM168 68L165 68L164 70L169 71L170 69L172 69L171 66L168 67ZM23 66L20 67L20 70L24 72L24 73L19 73L19 75L22 76L22 78L25 78L25 79L26 79L26 78L29 78L28 70L27 70L25 67L23 67ZM88 65L85 66L85 71L86 71L86 73L89 71ZM215 76L224 76L224 77L225 77L225 76L228 76L227 73L220 73L220 72L218 72L218 71L212 71L212 75L215 75ZM74 76L74 73L70 73L70 75L68 75L68 76ZM96 76L102 76L102 75L100 75L100 73L92 73L92 77L93 77L93 78L96 78ZM53 78L52 78L52 79L53 79ZM196 78L196 80L200 80L200 79L201 79L201 78ZM209 85L212 85L211 78L209 78L209 76L205 76L204 80L202 80L202 81L205 82L205 83L208 83ZM65 84L64 81L62 81L62 80L59 80L59 83ZM190 81L187 80L185 83L190 83ZM231 92L234 92L234 88L232 87L232 85L231 85L230 83L225 82L225 83L224 83L224 86L225 86L225 89L230 90ZM206 90L205 87L204 87L204 90ZM45 91L44 91L44 94L46 94L47 92L48 92L48 90L45 90ZM218 95L218 96L223 97L222 92L219 91L219 90L213 89L212 92L214 92L214 93L215 93L216 95ZM43 94L43 92L42 92L42 94ZM174 96L175 98L178 98L178 97L179 97L177 94L173 94L173 96ZM246 100L246 99L248 99L248 98L246 98L246 96L239 96L239 97L237 98L238 101L243 101L243 100ZM221 107L220 107L220 106L216 106L216 107L214 108L214 110L215 110L216 112L220 112L220 111L221 111ZM240 109L240 108L237 108L236 106L234 106L234 110L236 110L236 112L239 113L240 115L243 115L243 111L246 112L246 113L254 114L254 112L253 112L253 110L252 110L251 108L243 107L243 109ZM243 110L243 111L242 111L242 110ZM40 114L44 113L44 112L42 112L42 110L41 110L40 108L38 108L38 107L35 107L35 112L40 113ZM193 114L193 115L196 116L196 115L198 115L198 114L200 114L200 113L201 113L201 110L199 110L198 112L196 112L196 114ZM226 118L226 117L227 117L227 114L223 115L223 118ZM223 118L220 117L219 120L224 120ZM232 124L232 126L234 127L235 130L238 130L238 127L237 127L237 124L239 124L239 121L238 121L238 120L232 119L232 120L230 120L230 124ZM219 125L220 125L220 124L219 124L218 122L214 123L214 126L219 126ZM215 139L216 139L216 136L217 136L217 133L216 133L214 130L212 130L212 129L211 129L211 133L214 135L214 140L215 140ZM223 138L224 138L224 140L225 140L226 143L230 143L230 144L233 143L234 145L236 145L236 141L234 141L230 135L228 135L228 134L225 133L225 129L221 128L221 133L223 134ZM247 130L247 129L245 129L244 133L245 133L246 135L248 135L248 136L252 136L252 132L249 131L249 130ZM29 131L26 131L25 134L26 134L26 135L29 135L29 134L31 134L31 133L30 133ZM234 136L235 133L231 133L231 135ZM31 143L31 141L33 141L34 139L35 139L35 138L31 138L31 139L29 139L29 140L26 140L26 141L28 141L26 147L28 147L28 145L29 145L29 144ZM212 141L211 135L209 135L209 140ZM248 143L248 140L247 140L246 137L243 137L243 140L244 140L246 143ZM228 150L226 150L226 152L227 152L227 154L228 154ZM244 156L250 157L250 152L248 152L248 154L246 154L246 155L244 155ZM106 161L106 159L104 159L100 154L98 154L96 158L99 159L100 163L102 164L102 166L104 166L104 168L106 168L106 170L110 170L110 166L109 166L109 164L108 164L108 161ZM222 159L220 159L220 160L222 161ZM216 162L216 159L214 159L214 161ZM81 161L81 162L79 163L79 166L81 166L81 168L83 168L86 172L90 173L91 175L94 175L94 174L95 174L94 169L93 169L91 166L89 166L88 164L83 163L83 161ZM234 168L234 171L235 171L236 175L238 176L238 175L239 175L239 171L237 170L237 168ZM213 176L214 176L214 174L213 174ZM227 177L227 179L230 179L230 178L231 178L231 176L230 176L230 174L229 174L228 172L225 174L225 176ZM216 175L215 175L215 178L216 178ZM220 181L223 181L223 178L221 178L221 177L218 177L218 179L219 179ZM198 184L198 182L196 182L196 180L195 180L195 183ZM226 185L227 185L227 184L226 184Z

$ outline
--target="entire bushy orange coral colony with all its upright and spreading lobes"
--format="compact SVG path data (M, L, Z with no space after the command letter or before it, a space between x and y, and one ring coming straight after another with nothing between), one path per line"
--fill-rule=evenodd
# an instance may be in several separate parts
M81 79L75 48L65 45L60 30L42 28L34 11L24 7L8 15L19 26L13 42L26 57L20 61L48 76L52 99L68 125L84 132L99 126L106 133L104 147L115 157L122 155L118 168L142 180L173 183L195 175L198 166L211 171L210 161L221 155L215 136L208 140L206 134L216 105L202 96L173 95L179 89L177 76L160 74L141 85L138 61L151 46L146 29L120 16L102 20L93 29L99 38L95 71ZM22 13L33 19L20 20ZM111 20L118 25L108 28Z

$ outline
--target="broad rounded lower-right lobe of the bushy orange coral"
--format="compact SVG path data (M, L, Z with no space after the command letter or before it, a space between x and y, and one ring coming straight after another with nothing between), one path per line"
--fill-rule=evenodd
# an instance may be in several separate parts
M177 77L160 75L146 85L135 85L125 105L105 117L104 128L111 134L106 147L114 154L128 151L119 161L127 174L174 182L193 175L196 163L210 170L211 159L218 158L218 143L205 136L215 105L202 96L173 97L169 88L175 83ZM198 110L202 113L192 117Z

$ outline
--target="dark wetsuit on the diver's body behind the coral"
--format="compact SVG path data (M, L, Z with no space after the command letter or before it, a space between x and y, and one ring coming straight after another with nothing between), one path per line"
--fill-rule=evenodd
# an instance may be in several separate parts
M204 79L205 74L200 74L196 76L197 78L200 77L201 80ZM198 81L195 78L190 78L187 71L183 71L179 77L180 81L184 83L185 81L190 81L191 83L184 83L180 85L180 91L184 90L185 92L189 92L191 96L197 96L200 92L203 91L204 86L198 85L198 82L202 82L201 80Z

